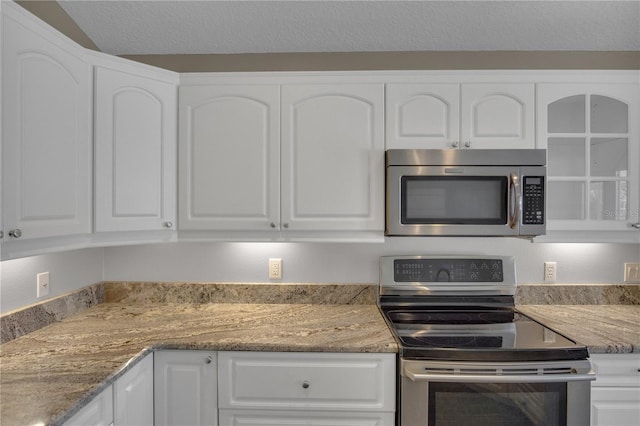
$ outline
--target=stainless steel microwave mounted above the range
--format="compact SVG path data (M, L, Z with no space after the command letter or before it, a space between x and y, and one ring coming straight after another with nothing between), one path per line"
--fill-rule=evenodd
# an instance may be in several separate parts
M544 235L543 149L391 149L386 235Z

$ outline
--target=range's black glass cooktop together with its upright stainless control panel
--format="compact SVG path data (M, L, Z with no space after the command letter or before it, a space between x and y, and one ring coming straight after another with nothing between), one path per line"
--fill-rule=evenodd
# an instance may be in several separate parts
M549 361L588 356L584 346L516 311L513 258L382 257L380 268L380 309L404 359ZM442 281L443 276L451 281Z

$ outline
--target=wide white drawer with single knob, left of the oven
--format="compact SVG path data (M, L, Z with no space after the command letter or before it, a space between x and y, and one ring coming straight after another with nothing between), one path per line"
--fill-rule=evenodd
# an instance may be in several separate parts
M219 353L220 408L395 411L394 354Z

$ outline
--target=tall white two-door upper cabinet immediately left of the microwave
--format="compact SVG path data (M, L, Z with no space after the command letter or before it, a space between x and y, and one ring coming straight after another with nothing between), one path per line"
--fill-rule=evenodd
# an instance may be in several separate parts
M237 81L180 88L180 231L381 232L383 86Z

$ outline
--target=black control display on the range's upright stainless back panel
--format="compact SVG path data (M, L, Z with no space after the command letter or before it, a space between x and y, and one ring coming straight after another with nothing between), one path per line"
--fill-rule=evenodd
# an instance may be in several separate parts
M502 282L500 259L396 259L395 282Z

